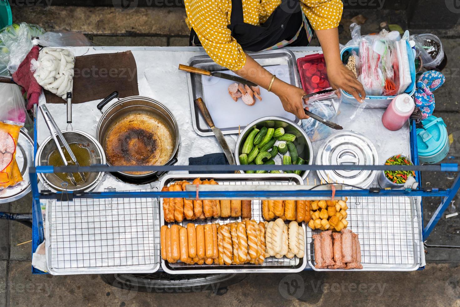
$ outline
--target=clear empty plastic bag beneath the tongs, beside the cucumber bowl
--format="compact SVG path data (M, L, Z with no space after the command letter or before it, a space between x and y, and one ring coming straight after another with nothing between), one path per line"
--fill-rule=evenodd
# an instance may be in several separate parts
M322 118L334 121L342 101L339 91L319 94L310 97L308 100L308 109ZM327 138L334 133L331 127L328 127L313 118L302 120L302 129L307 133L312 142Z

